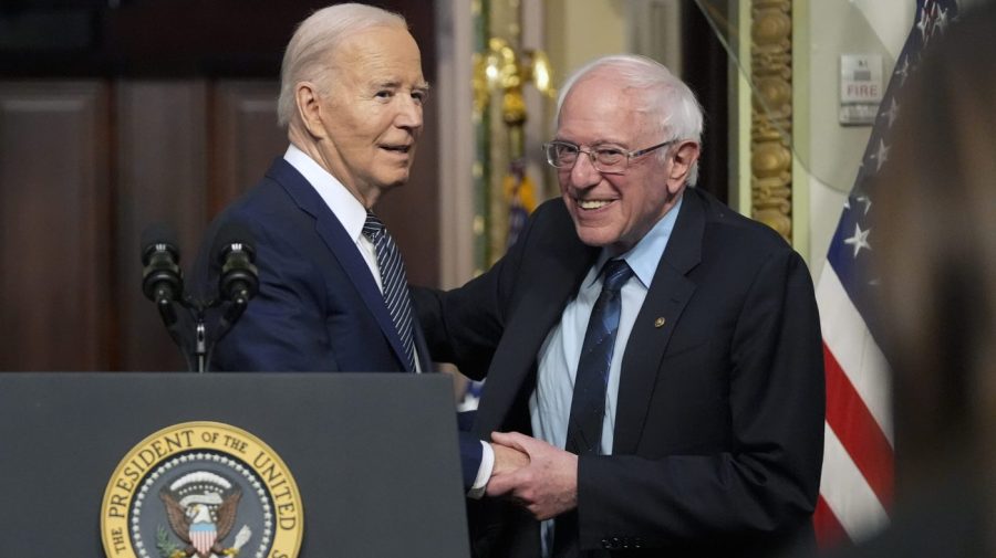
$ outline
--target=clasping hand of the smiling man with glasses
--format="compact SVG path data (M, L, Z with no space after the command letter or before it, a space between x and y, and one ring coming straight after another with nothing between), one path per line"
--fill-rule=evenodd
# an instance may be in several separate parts
M525 452L529 464L508 474L492 475L488 496L507 496L537 519L549 519L578 506L578 456L518 432L492 432L491 445Z

